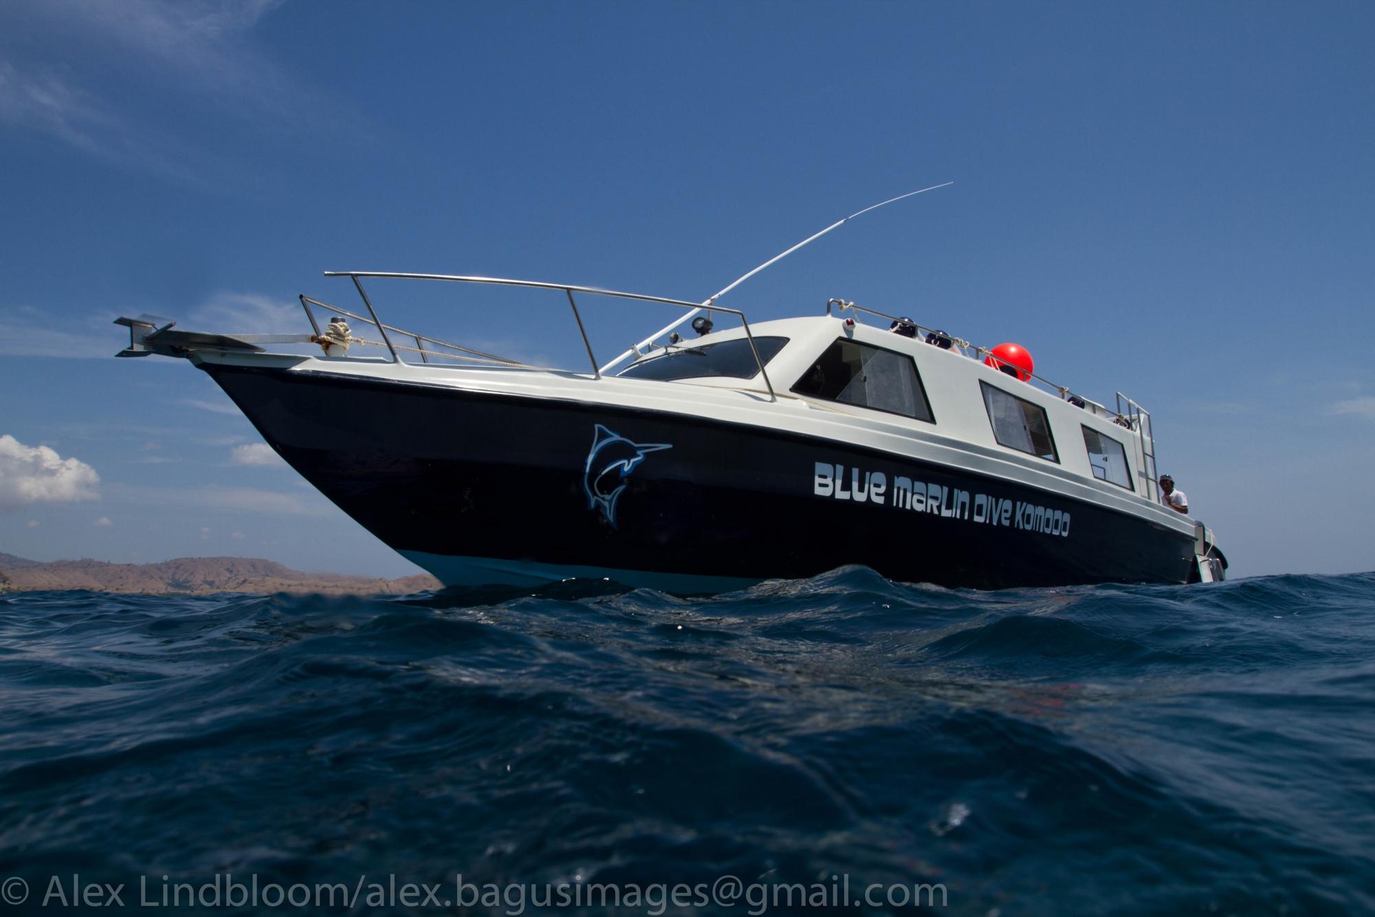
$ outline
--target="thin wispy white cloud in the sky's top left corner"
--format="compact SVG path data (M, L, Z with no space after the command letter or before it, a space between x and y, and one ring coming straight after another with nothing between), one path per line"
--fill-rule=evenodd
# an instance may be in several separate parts
M278 0L37 0L0 4L0 125L226 191L257 183L186 127L198 114L312 129L318 99L260 52ZM60 63L55 63L60 62ZM113 74L117 74L113 77ZM113 78L111 78L113 77ZM147 99L158 99L155 106ZM183 117L186 116L186 117ZM213 178L212 178L213 176Z

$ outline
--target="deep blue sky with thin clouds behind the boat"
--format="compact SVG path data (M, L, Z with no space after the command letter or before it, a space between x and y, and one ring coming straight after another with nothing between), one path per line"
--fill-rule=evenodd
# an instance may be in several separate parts
M202 373L111 359L120 314L301 330L340 268L694 300L954 180L723 304L1022 343L1152 410L1235 574L1375 569L1372 32L1363 3L3 4L0 551L414 571ZM558 303L371 292L580 365ZM608 357L668 318L588 317Z

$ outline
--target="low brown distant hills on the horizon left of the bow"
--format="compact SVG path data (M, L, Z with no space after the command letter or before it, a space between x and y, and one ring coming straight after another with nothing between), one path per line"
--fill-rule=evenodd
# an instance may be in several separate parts
M162 563L54 560L40 563L0 554L0 591L92 589L98 592L323 592L326 595L408 593L439 589L428 573L381 580L341 573L301 573L260 558L177 558Z

